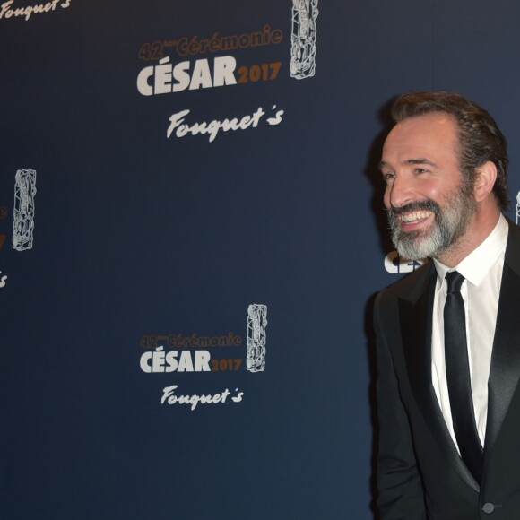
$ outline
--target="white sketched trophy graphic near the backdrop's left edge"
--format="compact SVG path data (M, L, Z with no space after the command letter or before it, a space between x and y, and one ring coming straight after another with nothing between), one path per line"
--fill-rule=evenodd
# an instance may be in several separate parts
M13 249L24 251L32 249L36 171L19 169L14 178Z

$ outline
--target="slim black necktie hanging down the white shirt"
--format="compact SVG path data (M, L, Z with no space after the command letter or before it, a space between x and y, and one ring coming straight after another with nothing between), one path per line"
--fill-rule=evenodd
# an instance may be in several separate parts
M444 306L446 379L455 438L461 457L477 481L481 481L482 446L473 411L470 364L466 342L466 321L461 286L464 276L446 273L447 295Z

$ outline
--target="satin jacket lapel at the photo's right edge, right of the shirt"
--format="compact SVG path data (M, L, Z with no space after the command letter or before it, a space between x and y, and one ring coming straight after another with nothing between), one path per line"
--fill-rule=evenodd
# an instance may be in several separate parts
M520 230L510 225L488 383L484 464L497 440L520 377Z

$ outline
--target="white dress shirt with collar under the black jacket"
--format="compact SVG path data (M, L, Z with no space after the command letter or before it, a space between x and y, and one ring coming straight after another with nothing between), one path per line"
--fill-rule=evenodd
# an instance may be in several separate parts
M498 297L504 268L507 232L507 221L503 215L500 215L498 223L489 237L454 269L465 278L461 294L464 299L466 315L466 338L472 380L473 407L482 446L484 446L488 419L488 378L490 377L491 351L497 322ZM446 420L447 429L449 429L455 446L457 446L449 405L444 356L445 275L451 269L435 259L434 264L438 279L432 316L431 378L440 409Z

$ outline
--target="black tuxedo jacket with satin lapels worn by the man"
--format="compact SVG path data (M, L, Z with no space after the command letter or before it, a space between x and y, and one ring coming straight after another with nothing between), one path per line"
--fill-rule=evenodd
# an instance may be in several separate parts
M520 228L509 223L491 356L481 485L431 383L432 263L379 293L377 505L384 520L520 519Z

